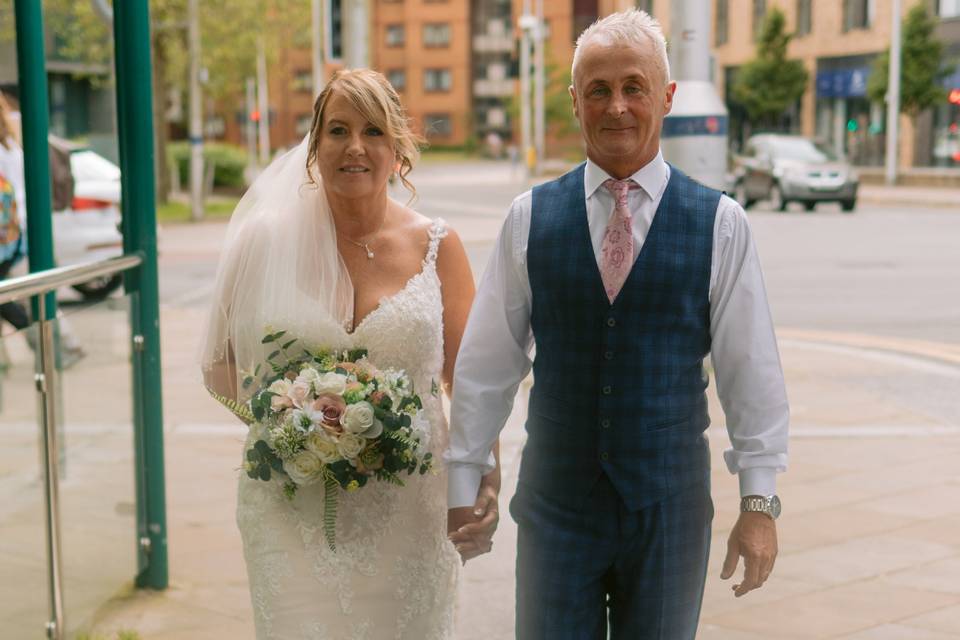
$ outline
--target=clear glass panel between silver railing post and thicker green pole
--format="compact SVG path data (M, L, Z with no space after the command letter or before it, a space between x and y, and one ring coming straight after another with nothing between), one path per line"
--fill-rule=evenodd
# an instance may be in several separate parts
M59 424L63 591L67 631L137 573L130 296L63 302Z

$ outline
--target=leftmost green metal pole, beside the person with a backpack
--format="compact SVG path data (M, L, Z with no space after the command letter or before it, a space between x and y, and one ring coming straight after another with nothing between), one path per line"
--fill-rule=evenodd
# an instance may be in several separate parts
M50 213L50 157L47 149L47 69L43 42L43 13L36 0L16 0L17 71L20 74L20 113L23 163L27 192L27 253L30 272L52 269L53 219ZM55 292L46 294L45 316L57 315ZM33 300L33 317L40 315Z

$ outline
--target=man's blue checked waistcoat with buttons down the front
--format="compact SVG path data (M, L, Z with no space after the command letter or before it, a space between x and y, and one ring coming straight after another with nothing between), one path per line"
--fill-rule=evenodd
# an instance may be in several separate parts
M605 473L636 510L709 481L703 359L720 193L671 167L611 305L590 241L584 166L533 190L536 356L520 483L580 505Z

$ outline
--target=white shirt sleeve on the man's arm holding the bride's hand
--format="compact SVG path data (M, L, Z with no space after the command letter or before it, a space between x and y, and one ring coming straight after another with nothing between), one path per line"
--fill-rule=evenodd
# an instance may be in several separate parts
M514 200L477 287L454 370L444 454L450 508L472 506L493 470L492 449L530 371L530 281L525 265L530 193Z

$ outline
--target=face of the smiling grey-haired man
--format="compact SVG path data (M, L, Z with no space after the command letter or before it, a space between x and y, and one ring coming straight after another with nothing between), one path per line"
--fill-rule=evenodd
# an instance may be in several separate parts
M655 56L652 42L595 40L577 63L570 95L587 156L616 178L630 176L660 149L676 84L667 81Z

